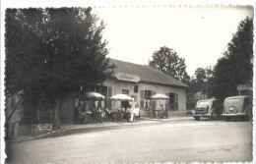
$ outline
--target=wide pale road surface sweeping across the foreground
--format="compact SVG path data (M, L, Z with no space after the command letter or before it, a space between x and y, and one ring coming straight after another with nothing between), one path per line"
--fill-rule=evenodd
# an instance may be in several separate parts
M250 122L131 123L13 143L8 156L11 163L245 162L252 160L251 132Z

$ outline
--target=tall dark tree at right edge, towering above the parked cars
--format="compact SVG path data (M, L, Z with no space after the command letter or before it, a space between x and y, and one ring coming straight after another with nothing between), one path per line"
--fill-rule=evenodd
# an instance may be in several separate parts
M252 84L253 76L253 22L246 18L227 44L224 57L218 60L214 69L211 93L224 98L237 95L237 84Z

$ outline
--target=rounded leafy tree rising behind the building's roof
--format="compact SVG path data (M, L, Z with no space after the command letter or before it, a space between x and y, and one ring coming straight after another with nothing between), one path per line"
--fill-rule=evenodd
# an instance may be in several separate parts
M185 59L180 58L172 48L168 48L166 46L160 47L159 51L154 52L152 58L153 60L149 61L150 66L178 81L185 83L189 82Z

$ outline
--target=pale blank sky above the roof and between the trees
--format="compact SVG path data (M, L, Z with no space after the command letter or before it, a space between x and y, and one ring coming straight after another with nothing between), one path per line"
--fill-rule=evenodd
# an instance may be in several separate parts
M148 64L161 46L185 58L187 72L214 66L250 7L108 7L94 8L106 24L108 57Z

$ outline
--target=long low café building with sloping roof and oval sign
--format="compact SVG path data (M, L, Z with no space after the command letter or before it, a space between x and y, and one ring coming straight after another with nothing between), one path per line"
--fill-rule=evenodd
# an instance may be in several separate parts
M151 117L153 109L159 109L160 104L169 109L169 116L186 115L186 85L174 78L149 66L143 66L110 59L116 68L112 77L104 81L96 92L106 97L102 106L116 110L121 108L121 102L109 98L114 94L128 94L134 98L132 104L138 104L141 115ZM161 93L168 95L169 100L152 100L151 96Z

